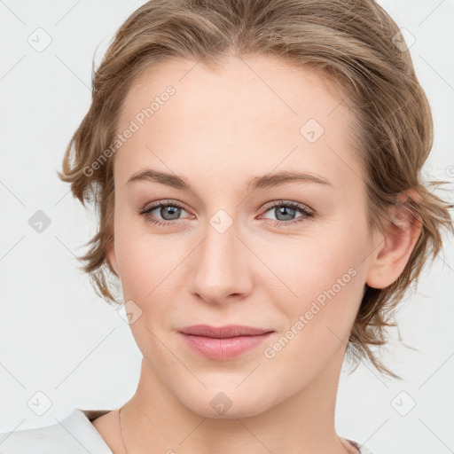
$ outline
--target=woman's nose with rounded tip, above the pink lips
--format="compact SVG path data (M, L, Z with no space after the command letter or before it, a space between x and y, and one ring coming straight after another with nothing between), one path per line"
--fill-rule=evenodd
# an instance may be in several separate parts
M235 223L226 230L207 225L206 236L192 254L191 292L203 301L223 304L250 293L251 252Z

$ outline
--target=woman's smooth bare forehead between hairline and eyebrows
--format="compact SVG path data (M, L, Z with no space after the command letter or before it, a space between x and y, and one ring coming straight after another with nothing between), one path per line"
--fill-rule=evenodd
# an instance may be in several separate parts
M251 175L279 167L334 180L353 176L361 170L343 98L325 77L281 59L231 56L216 69L170 59L147 69L129 90L118 132L131 122L137 130L117 152L115 167L123 180L146 164L187 174L189 163L194 176L196 168L203 175L207 168L244 172L245 166L254 167Z

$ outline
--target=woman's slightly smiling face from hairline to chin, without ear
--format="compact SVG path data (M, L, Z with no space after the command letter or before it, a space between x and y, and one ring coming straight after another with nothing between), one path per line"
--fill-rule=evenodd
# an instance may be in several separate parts
M261 413L344 354L372 242L340 100L269 57L216 71L169 60L129 91L108 258L138 348L191 411L219 417L217 399L230 416ZM180 332L191 325L266 334Z

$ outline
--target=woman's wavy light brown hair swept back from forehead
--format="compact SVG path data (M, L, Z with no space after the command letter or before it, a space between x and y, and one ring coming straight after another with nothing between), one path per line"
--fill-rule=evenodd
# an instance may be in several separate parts
M372 0L153 0L140 6L121 25L93 74L90 109L59 172L82 205L89 200L98 210L98 232L81 257L97 293L118 302L114 270L106 260L114 232L111 145L122 103L137 76L170 58L215 65L231 52L278 57L329 77L354 109L370 227L384 231L388 208L398 202L420 221L419 239L400 277L386 288L365 286L348 340L349 359L356 359L356 365L369 357L380 372L400 378L373 347L387 343L395 306L416 284L429 255L434 261L439 253L442 228L454 232L449 212L454 206L433 192L448 182L422 181L421 168L433 145L433 120L404 43L395 21ZM399 201L410 189L417 197Z

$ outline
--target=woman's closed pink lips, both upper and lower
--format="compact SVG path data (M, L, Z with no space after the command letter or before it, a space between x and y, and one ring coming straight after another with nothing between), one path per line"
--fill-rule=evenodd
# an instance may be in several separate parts
M271 333L269 329L242 325L192 325L179 330L186 346L210 359L225 360L257 347Z

